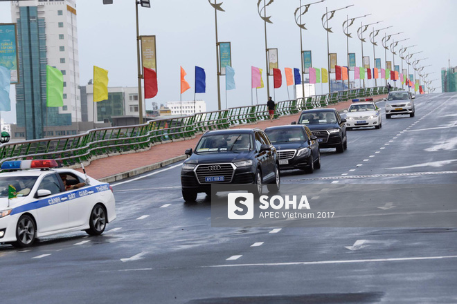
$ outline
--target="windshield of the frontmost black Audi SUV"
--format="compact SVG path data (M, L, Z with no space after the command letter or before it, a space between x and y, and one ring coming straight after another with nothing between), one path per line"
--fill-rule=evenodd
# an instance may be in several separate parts
M251 151L253 147L250 134L222 134L206 135L201 137L196 153L235 152Z

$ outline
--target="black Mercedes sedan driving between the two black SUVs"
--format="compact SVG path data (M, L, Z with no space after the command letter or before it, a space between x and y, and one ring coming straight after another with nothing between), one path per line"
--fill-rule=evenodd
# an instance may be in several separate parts
M313 173L321 168L321 153L317 137L303 124L271 126L265 129L278 152L279 169L301 169Z

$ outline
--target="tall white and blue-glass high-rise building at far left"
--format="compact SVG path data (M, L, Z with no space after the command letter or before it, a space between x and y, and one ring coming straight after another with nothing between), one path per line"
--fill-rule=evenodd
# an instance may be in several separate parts
M81 107L75 1L12 1L11 12L21 79L16 85L17 128L25 129L26 140L52 136L59 126L67 134L77 133ZM62 107L46 107L46 65L64 75Z

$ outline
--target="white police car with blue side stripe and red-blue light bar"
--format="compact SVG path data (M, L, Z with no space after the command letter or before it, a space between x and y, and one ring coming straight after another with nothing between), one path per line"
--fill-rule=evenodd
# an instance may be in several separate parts
M1 164L0 243L28 247L35 238L78 230L98 235L116 218L109 184L55 167L55 160Z

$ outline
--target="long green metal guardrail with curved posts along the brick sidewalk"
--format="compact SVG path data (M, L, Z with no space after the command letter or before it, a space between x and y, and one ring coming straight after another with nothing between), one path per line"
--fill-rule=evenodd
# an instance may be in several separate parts
M393 88L395 89L395 88ZM336 104L343 99L386 94L385 87L360 88L326 95L286 100L276 103L276 117ZM240 106L222 111L197 113L191 116L152 120L134 126L114 126L89 130L86 133L51 137L0 145L0 163L6 160L52 158L65 167L107 155L141 151L154 144L185 139L210 130L253 124L268 120L266 104Z

